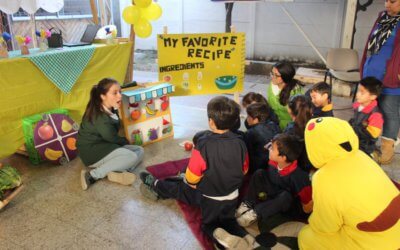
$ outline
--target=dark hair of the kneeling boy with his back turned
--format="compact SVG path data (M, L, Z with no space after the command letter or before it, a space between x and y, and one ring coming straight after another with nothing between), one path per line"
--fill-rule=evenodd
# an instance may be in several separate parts
M231 130L240 119L240 106L225 96L217 96L208 102L207 116L217 129Z

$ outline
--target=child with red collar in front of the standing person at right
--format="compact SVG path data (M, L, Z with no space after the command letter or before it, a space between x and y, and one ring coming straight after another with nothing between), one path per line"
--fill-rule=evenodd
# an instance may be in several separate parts
M382 90L382 82L375 77L366 77L360 81L353 104L354 117L349 121L360 141L360 150L370 155L382 132L383 117L377 98Z

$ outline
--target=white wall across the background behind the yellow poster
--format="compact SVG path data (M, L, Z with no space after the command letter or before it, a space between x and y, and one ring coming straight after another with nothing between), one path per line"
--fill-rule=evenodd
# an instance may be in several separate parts
M130 0L120 0L121 13ZM152 22L147 39L136 38L136 49L157 49L156 34L168 26L168 33L212 33L225 31L225 5L210 0L158 0L163 15ZM235 3L232 23L237 32L246 33L246 55L250 59L322 62L299 30L282 11L293 16L323 56L329 48L339 47L346 8L344 0L294 0L289 3ZM376 0L367 12L359 12L355 48L363 48L368 32L384 0ZM129 26L122 22L122 35Z

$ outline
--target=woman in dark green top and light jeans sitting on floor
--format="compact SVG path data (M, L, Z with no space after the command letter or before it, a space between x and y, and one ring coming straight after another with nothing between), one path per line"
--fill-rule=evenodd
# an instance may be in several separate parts
M144 151L118 135L121 97L119 83L111 78L102 79L90 91L77 140L82 162L92 168L81 172L83 190L106 176L122 185L131 185L136 178L129 171L139 165Z

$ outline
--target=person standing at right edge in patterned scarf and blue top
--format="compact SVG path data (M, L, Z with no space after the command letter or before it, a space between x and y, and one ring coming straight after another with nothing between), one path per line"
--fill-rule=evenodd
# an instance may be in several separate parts
M390 164L400 128L400 0L385 0L385 11L368 36L361 60L361 78L373 76L383 82L379 107L383 113L380 164Z

